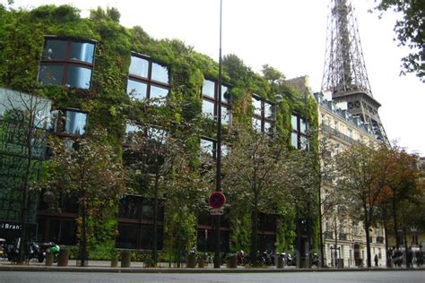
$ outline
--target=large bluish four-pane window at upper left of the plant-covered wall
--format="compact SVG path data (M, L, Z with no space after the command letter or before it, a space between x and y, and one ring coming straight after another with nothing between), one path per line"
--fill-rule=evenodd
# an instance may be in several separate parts
M39 82L90 89L94 66L94 41L46 37L39 65Z

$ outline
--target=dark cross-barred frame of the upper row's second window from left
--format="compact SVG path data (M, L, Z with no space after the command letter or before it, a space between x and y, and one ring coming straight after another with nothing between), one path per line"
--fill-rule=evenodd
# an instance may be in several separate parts
M128 81L136 81L136 82L145 83L146 84L146 99L151 99L151 89L152 89L152 87L157 87L157 88L160 88L160 89L163 89L163 90L168 90L167 96L165 97L165 99L167 99L168 96L169 96L169 92L171 91L171 76L170 76L171 70L170 70L170 67L166 64L160 63L160 61L153 60L151 56L146 56L146 55L131 51L130 60L133 57L138 57L140 59L148 61L148 76L143 77L143 76L136 75L134 73L130 73L130 65L131 65L131 61L130 61L130 65L128 66L127 88L128 88ZM162 81L152 80L152 64L159 64L160 66L167 68L168 76L169 76L169 82L168 83L165 83L165 82L162 82ZM127 94L130 95L129 92L127 92Z

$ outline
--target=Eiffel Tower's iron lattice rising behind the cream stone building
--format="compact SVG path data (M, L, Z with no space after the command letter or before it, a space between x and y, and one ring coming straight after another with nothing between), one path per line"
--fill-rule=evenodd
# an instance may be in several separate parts
M359 124L377 140L388 143L377 114L381 105L370 90L351 0L331 0L330 10L322 90L331 91L335 103L346 103L348 112Z

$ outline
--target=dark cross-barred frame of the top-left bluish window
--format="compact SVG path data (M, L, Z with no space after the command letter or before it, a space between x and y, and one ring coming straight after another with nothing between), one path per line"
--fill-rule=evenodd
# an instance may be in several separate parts
M43 56L40 59L40 63L39 63L39 75L38 78L40 76L40 69L43 65L46 66L63 66L64 67L64 71L62 73L62 81L61 83L57 83L57 85L63 85L63 86L67 86L67 75L68 75L68 71L70 67L81 67L84 69L88 69L91 71L91 77L90 77L90 83L89 86L87 88L80 88L80 87L75 87L75 88L79 88L82 90L90 90L91 89L91 85L92 85L92 81L93 81L93 72L94 72L94 65L95 65L95 57L96 57L96 44L97 41L96 40L92 40L92 39L73 39L73 38L65 38L65 37L57 37L57 36L45 36L44 37L44 46L43 46ZM64 59L48 59L44 56L44 49L47 46L48 40L62 40L62 41L66 41L66 47L65 47L65 58ZM70 55L71 55L71 44L72 43L89 43L93 45L93 55L92 55L92 63L86 62L86 61L81 61L81 60L75 60L75 59L71 59ZM40 79L39 79L40 81Z

